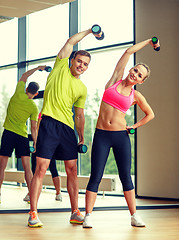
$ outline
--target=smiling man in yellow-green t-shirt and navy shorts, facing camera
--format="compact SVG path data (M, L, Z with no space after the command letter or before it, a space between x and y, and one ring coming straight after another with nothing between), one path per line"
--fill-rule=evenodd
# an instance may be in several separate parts
M77 178L77 139L74 124L78 133L78 144L84 143L84 106L87 89L80 80L90 63L91 56L86 51L78 51L68 66L73 46L81 41L91 29L70 37L56 57L54 68L48 76L42 107L42 120L37 138L37 165L30 187L31 211L28 226L41 227L38 218L37 202L43 177L55 154L57 160L63 160L67 173L67 189L71 202L71 223L82 224L84 217L78 209L78 178ZM73 121L72 107L75 118Z

